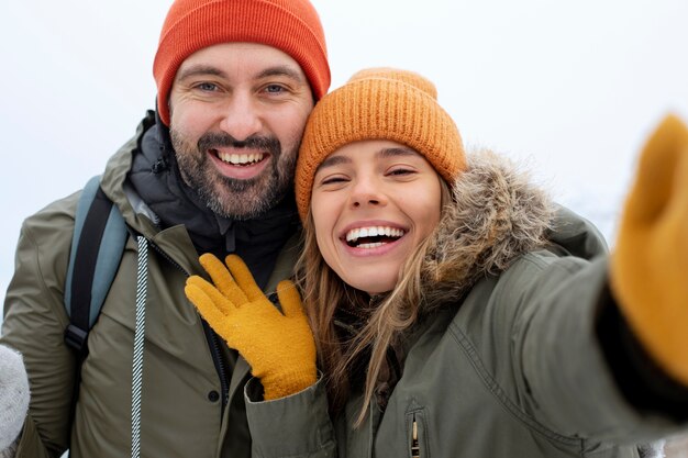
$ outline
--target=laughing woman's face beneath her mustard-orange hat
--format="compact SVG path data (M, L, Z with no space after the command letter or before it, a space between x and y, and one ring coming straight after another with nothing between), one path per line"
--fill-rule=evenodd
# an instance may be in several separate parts
M399 269L440 222L440 176L390 141L341 147L315 172L311 213L325 262L370 294L390 291Z

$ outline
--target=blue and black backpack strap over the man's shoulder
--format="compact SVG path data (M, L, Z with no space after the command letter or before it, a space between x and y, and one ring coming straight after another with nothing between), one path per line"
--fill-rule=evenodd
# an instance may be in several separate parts
M65 340L81 358L86 340L120 267L129 232L119 209L100 188L100 176L84 188L75 216L65 284L70 324Z

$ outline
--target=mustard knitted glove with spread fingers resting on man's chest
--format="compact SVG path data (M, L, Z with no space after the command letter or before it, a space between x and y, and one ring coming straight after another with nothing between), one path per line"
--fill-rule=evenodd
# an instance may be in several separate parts
M277 286L282 314L238 256L228 256L226 267L213 255L201 256L200 262L215 286L192 276L185 288L187 298L251 365L265 399L284 398L313 384L315 343L293 283L282 280Z

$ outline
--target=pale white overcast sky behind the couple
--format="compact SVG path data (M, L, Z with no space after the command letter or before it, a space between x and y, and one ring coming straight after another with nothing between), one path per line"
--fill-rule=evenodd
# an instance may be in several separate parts
M153 108L170 3L0 1L0 299L22 220L101 172ZM688 121L685 0L314 4L332 88L369 66L425 75L469 147L525 160L611 244L647 134L669 111Z

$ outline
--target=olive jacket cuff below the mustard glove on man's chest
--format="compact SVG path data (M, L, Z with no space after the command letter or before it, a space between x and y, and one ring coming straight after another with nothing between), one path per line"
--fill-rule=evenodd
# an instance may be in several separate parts
M263 387L253 378L246 383L244 396L253 457L336 457L322 377L296 394L273 401L262 401Z

